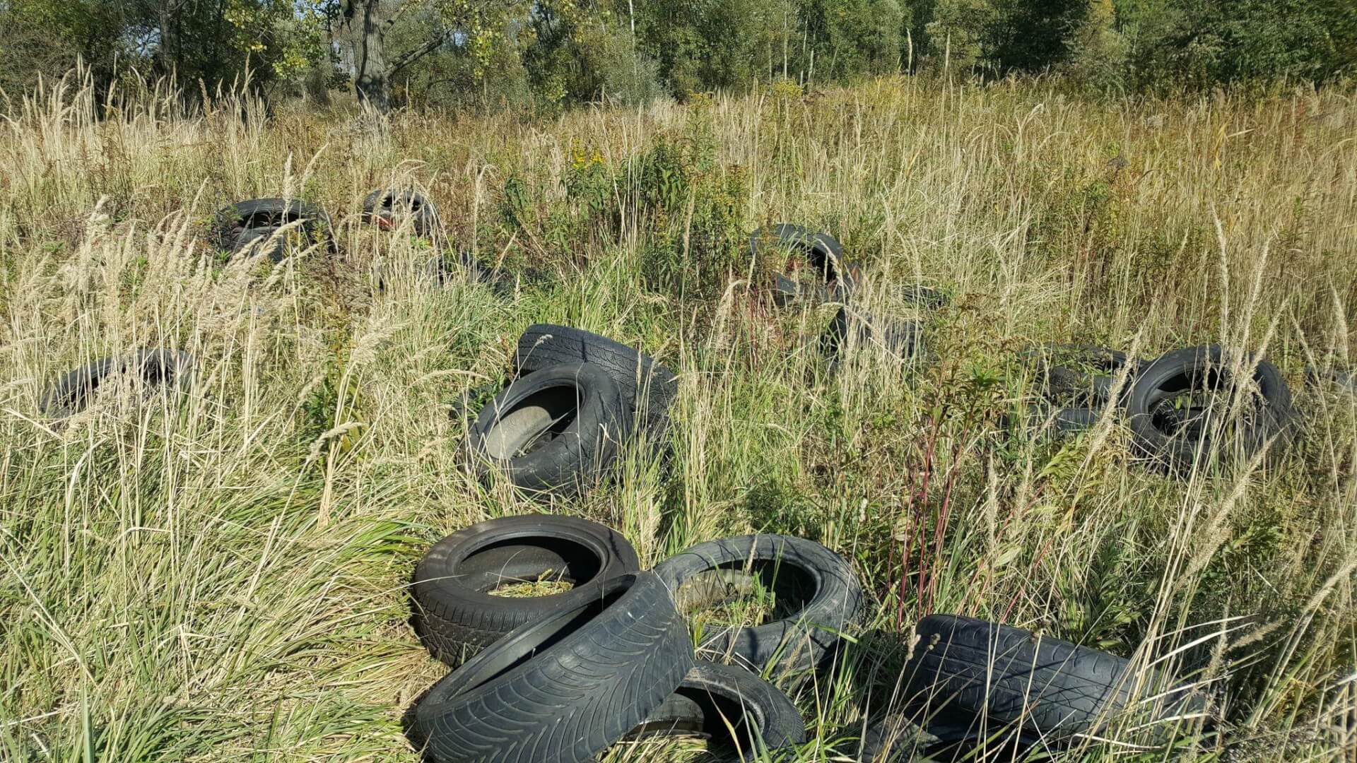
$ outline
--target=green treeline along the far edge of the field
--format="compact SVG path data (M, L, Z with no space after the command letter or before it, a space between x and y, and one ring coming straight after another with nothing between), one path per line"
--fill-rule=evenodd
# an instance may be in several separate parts
M77 61L379 107L642 102L769 80L1056 73L1099 91L1331 83L1354 0L0 0L0 90Z

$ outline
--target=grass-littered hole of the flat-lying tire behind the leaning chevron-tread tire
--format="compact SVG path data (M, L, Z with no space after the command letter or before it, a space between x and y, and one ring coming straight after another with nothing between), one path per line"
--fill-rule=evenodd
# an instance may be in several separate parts
M491 596L532 597L565 593L589 582L603 559L566 538L512 538L476 548L456 567L457 580Z

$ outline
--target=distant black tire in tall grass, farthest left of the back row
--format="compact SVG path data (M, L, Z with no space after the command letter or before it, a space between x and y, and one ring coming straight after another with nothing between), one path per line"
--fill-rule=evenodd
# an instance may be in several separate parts
M252 198L237 201L217 212L217 247L237 254L252 246L274 262L286 255L284 225L297 223L296 232L305 246L324 246L335 251L330 216L319 206L296 198Z

